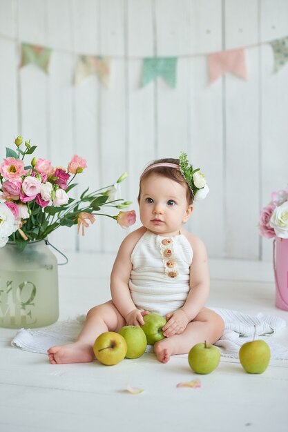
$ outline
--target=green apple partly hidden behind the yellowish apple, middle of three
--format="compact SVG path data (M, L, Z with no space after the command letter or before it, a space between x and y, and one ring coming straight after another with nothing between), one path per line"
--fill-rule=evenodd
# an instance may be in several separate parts
M137 358L145 353L147 340L141 327L124 326L120 328L119 334L124 337L127 344L126 358Z

